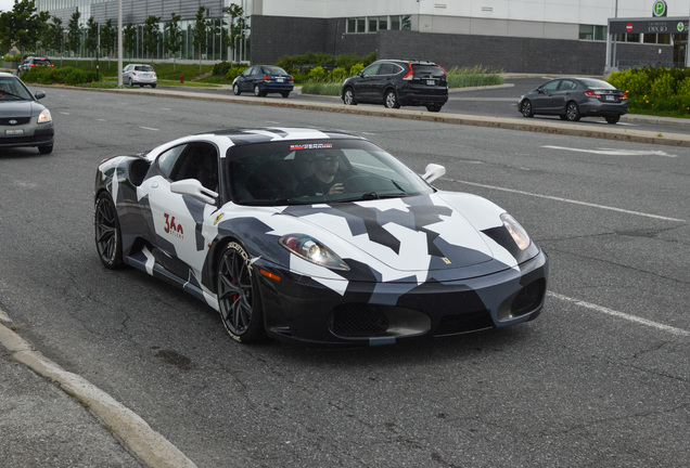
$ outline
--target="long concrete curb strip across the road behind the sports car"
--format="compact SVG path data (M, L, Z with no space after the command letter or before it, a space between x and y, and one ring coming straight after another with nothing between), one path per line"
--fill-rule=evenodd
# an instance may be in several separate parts
M72 88L75 89L75 88ZM380 107L346 106L345 104L330 103L303 103L280 98L250 98L235 95L204 94L191 91L171 91L161 89L89 89L90 91L115 92L125 94L154 95L162 98L193 99L197 101L228 102L235 104L254 104L274 107L290 107L305 110L336 112L342 114L358 114L389 118L404 118L422 121L437 121L452 125L467 125L475 127L490 127L509 130L532 131L553 134L564 134L571 136L586 136L604 140L617 140L635 143L649 143L668 146L690 147L690 134L685 133L662 133L644 130L630 130L615 126L602 127L600 125L587 125L572 122L561 123L553 120L539 120L526 118L503 118L486 117L463 114L429 113L422 110L408 109L386 109ZM638 121L640 118L637 119ZM648 120L644 120L648 121ZM667 125L663 120L656 119L660 123Z

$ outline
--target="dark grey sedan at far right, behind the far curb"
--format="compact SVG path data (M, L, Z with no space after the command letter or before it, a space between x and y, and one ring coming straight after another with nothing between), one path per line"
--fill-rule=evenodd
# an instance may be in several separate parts
M562 120L578 121L595 116L616 123L628 112L628 96L604 80L558 78L522 95L518 109L525 117L558 115Z

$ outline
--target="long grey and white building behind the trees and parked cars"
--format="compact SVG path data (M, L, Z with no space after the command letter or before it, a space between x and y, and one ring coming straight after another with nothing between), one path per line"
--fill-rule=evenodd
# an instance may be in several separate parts
M659 1L122 0L124 24L142 25L151 15L163 23L176 12L187 22L187 36L204 5L216 25L208 60L271 63L305 52L375 51L378 57L427 58L446 68L483 65L516 73L596 75L606 64L609 20L652 17ZM235 56L222 38L233 3L242 6L247 25ZM668 16L690 16L690 0L663 3ZM102 23L117 16L117 0L37 0L37 6L65 23L77 6L82 21L93 16ZM614 39L614 66L686 65L687 30L624 32ZM193 55L193 50L188 47L182 54Z

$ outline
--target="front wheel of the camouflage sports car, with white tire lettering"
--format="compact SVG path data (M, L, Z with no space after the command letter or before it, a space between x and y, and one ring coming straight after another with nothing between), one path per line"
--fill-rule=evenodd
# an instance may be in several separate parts
M228 334L242 343L261 339L264 313L258 285L252 259L239 243L229 243L220 256L216 282L218 313Z

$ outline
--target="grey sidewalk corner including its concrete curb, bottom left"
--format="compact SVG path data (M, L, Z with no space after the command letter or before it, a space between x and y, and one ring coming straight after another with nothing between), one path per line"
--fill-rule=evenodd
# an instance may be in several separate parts
M139 416L35 351L2 310L0 358L1 467L195 467Z

